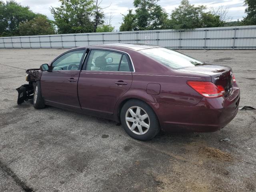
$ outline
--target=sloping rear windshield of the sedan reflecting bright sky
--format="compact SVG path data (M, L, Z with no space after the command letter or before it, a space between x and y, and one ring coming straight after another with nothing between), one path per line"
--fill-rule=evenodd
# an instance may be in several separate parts
M139 52L174 69L203 64L196 59L193 59L189 56L186 56L168 48L149 48L140 50Z

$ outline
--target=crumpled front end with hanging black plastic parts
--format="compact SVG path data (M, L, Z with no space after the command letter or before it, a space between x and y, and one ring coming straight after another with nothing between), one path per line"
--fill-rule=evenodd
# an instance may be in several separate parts
M40 80L42 72L40 69L28 69L26 70L26 74L26 81L28 81L28 84L24 84L16 89L18 91L18 105L33 98L34 84L36 81Z

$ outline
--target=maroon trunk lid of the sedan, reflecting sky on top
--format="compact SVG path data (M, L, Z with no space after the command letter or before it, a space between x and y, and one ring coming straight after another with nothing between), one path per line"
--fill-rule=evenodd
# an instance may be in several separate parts
M212 83L216 85L221 85L225 89L225 95L232 90L232 86L234 84L232 69L228 66L202 64L179 70L184 72L193 72L210 75L212 78Z

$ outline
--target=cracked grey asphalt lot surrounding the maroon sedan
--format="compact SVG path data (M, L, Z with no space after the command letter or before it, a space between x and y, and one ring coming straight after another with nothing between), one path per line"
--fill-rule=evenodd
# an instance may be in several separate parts
M244 192L256 191L256 110L240 110L214 133L160 133L130 138L116 122L66 110L16 104L25 69L62 49L0 50L1 192ZM180 50L231 66L241 106L256 108L256 50ZM230 142L220 142L229 138ZM201 152L214 147L233 161Z

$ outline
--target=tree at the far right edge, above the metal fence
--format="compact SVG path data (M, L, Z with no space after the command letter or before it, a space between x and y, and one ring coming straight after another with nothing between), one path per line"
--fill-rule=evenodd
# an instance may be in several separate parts
M244 25L256 25L256 1L245 0L244 5L247 6L245 9L247 16L244 18L242 23Z

